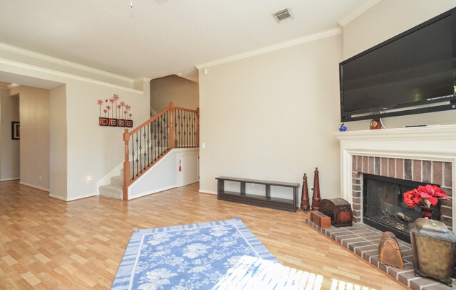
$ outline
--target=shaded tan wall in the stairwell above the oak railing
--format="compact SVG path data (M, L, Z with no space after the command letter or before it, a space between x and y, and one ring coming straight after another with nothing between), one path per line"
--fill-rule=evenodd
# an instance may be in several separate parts
M170 102L176 106L196 109L199 103L198 84L177 75L151 80L150 107L158 113Z

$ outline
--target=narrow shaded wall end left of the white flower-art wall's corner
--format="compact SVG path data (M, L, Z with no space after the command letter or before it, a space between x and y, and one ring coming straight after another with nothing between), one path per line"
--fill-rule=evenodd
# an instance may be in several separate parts
M50 90L51 195L67 198L66 85Z

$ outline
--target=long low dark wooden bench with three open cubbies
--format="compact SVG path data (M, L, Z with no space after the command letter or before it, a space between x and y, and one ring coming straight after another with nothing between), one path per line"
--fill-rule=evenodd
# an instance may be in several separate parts
M219 200L229 200L237 203L245 203L247 205L258 205L264 208L274 208L277 210L287 210L296 212L296 199L298 196L298 189L300 183L287 183L277 181L259 181L256 179L247 178L234 178L219 176L217 179L217 198ZM239 182L239 192L232 192L224 190L225 181ZM264 195L254 195L245 192L246 183L262 184L265 187ZM279 186L286 188L293 188L293 197L291 199L285 198L271 198L271 186Z

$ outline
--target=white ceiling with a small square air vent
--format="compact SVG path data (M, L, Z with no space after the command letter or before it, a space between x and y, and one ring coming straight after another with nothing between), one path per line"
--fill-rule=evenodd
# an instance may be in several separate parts
M0 9L0 42L132 79L336 28L372 0L14 0ZM271 14L289 7L294 19Z

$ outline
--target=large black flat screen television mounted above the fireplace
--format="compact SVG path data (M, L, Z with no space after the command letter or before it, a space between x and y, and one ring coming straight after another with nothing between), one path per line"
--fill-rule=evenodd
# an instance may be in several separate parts
M341 121L456 109L456 8L339 64Z

